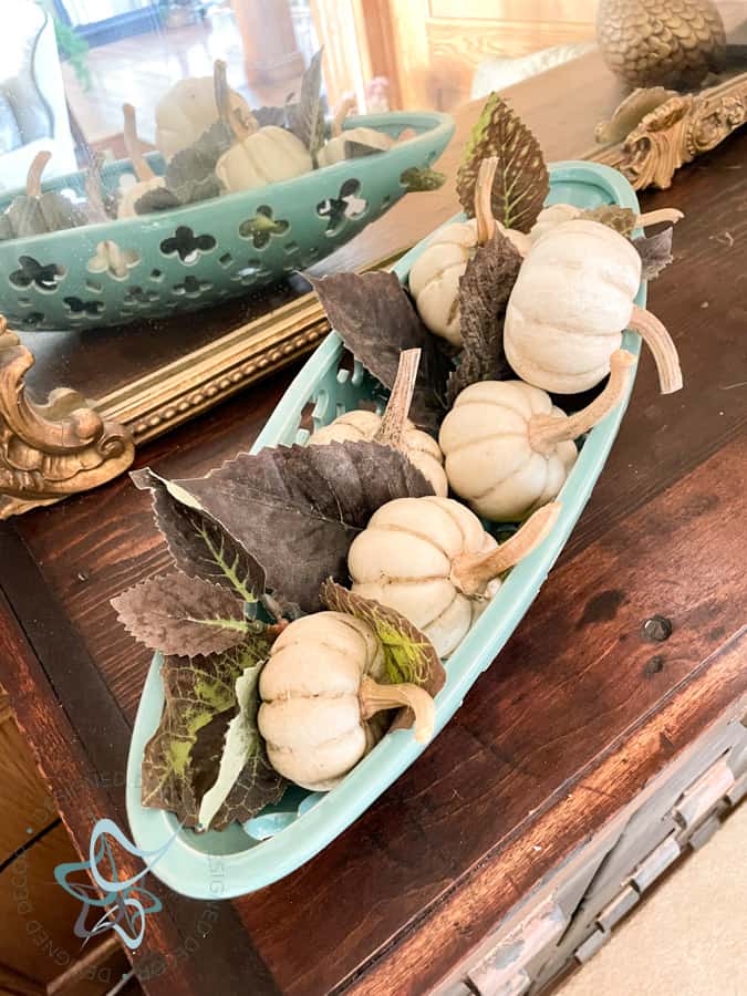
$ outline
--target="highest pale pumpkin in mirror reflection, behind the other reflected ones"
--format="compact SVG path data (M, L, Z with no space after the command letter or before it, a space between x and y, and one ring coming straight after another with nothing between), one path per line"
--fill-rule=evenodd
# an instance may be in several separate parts
M231 90L232 111L249 116L249 105ZM179 80L156 104L156 146L167 159L186 148L218 121L212 76Z

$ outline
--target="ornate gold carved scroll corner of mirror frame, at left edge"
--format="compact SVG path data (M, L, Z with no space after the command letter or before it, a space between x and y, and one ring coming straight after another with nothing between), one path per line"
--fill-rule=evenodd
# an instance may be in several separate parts
M131 433L65 387L33 402L33 356L0 317L0 518L117 477L135 457Z

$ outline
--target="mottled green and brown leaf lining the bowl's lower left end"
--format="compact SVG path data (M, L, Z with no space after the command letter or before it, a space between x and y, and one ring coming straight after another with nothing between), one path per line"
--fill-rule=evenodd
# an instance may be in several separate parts
M247 668L258 672L269 649L269 641L255 637L221 654L164 660L164 709L143 754L144 806L170 810L185 826L197 826L204 795L218 777L225 730L237 714L237 679ZM230 821L225 813L214 826L224 818Z

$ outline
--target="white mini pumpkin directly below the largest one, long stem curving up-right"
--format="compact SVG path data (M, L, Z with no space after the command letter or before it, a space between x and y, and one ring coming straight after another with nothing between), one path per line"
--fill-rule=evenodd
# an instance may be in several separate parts
M438 437L452 489L494 521L523 519L551 501L575 463L572 440L621 403L634 362L623 350L614 353L604 391L571 416L523 381L470 384Z

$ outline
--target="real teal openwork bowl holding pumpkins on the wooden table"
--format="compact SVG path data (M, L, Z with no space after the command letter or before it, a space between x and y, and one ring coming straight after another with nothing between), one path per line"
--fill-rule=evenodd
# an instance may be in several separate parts
M632 187L613 169L593 163L559 163L550 170L548 203L566 201L580 207L619 204L637 211ZM404 281L411 266L423 251L416 246L395 267ZM645 304L645 287L636 301ZM637 334L626 332L624 346L640 352ZM371 398L376 382L359 363L350 376L339 371L343 347L332 332L311 356L286 392L274 414L257 439L252 452L264 446L304 442L299 433L301 413L315 401L317 424L331 422L363 397ZM631 384L632 388L632 384ZM381 388L380 388L381 390ZM626 401L625 401L626 404ZM436 697L436 732L459 708L479 674L490 665L522 615L531 604L589 500L602 471L624 405L610 413L585 439L579 459L560 494L562 511L556 528L542 546L513 568L498 594L484 612L457 652L448 660L447 681ZM139 848L155 850L176 828L175 818L156 809L145 809L139 801L139 769L143 749L154 733L163 706L159 656L153 661L143 691L127 767L127 813L134 840ZM424 748L412 732L388 734L333 791L310 793L295 787L276 806L268 807L243 828L235 824L221 833L196 834L183 830L173 848L160 859L154 873L172 889L197 899L215 898L215 861L221 854L220 896L252 892L281 879L322 850L349 827L418 757ZM432 749L438 750L438 744Z

